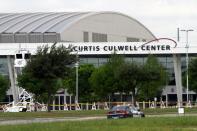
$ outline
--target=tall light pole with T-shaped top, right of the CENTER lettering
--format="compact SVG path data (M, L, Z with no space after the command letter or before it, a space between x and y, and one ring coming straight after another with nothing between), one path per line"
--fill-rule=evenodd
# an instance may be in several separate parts
M188 56L188 49L189 49L189 43L188 43L188 32L194 31L192 29L189 30L181 30L186 32L186 88L187 88L187 103L189 102L189 76L188 76L188 68L189 68L189 56Z

